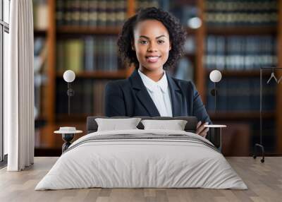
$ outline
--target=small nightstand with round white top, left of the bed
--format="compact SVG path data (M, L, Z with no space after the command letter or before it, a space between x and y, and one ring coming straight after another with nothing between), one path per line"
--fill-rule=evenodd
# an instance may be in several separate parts
M60 127L59 131L54 131L54 133L61 134L63 141L65 141L62 145L63 153L71 145L71 141L73 141L75 134L82 133L82 131L77 131L75 127Z

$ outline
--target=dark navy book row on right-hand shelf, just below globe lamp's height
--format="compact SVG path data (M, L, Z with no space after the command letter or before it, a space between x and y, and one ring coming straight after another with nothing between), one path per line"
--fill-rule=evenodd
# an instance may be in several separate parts
M263 78L262 110L273 112L276 109L276 83L267 84L268 78ZM259 112L260 106L259 78L223 78L216 85L216 109L222 112ZM214 83L207 83L207 110L214 110L214 96L210 93Z

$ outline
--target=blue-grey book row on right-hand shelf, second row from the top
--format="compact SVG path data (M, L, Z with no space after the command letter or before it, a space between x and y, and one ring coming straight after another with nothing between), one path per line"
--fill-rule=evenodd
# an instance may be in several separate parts
M276 37L208 35L204 63L207 69L259 70L277 65Z

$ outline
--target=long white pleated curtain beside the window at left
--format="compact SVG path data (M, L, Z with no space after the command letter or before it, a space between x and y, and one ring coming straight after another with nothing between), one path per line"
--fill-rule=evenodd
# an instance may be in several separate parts
M4 69L4 132L8 171L34 161L34 83L32 0L11 1L9 66Z

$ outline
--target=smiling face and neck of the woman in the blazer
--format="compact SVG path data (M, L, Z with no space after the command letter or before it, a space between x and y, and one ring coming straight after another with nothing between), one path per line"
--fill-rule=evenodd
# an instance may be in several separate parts
M166 27L158 20L144 20L135 26L133 50L142 72L162 72L171 49Z

